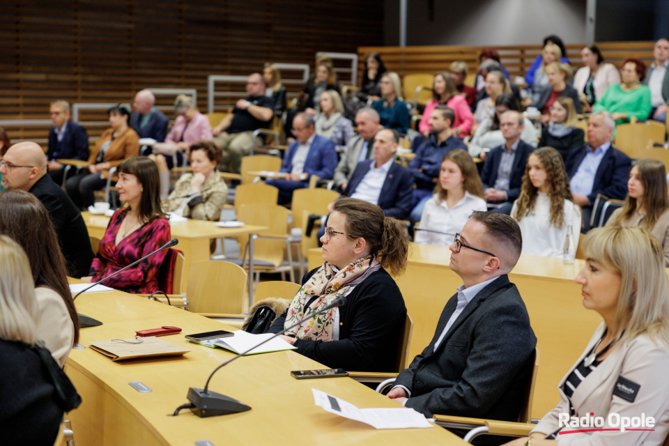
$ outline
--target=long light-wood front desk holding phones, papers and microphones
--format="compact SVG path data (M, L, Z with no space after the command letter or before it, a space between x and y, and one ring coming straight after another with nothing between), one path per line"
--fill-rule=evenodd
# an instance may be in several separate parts
M76 281L78 282L78 281ZM377 431L314 405L312 387L346 399L360 408L399 407L350 378L295 380L291 370L322 369L322 364L292 351L241 357L224 367L210 389L252 407L244 413L199 418L190 410L171 413L187 403L189 387L203 387L211 371L232 353L187 343L184 334L226 328L216 321L183 310L113 291L79 296L77 311L98 318L100 327L81 331L80 342L121 337L135 330L175 325L181 334L163 337L192 349L183 357L112 362L91 348L72 350L66 372L82 396L82 405L68 414L77 446L288 445L307 440L318 445L464 445L445 429ZM227 327L231 329L230 327ZM151 388L139 393L138 380Z

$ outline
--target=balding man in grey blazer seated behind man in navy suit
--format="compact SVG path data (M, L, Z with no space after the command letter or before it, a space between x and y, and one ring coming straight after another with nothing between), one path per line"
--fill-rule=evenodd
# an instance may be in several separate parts
M357 163L374 159L374 136L379 130L379 117L375 109L363 107L355 115L357 135L346 144L346 152L334 169L334 184L345 190Z

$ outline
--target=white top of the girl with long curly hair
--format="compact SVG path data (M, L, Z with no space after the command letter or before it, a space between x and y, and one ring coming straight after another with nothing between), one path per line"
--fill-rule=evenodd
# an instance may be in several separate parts
M522 254L532 256L558 257L562 258L564 250L564 239L567 237L567 222L571 221L571 232L574 235L574 249L578 247L578 236L580 235L580 207L572 201L564 200L564 224L562 228L551 225L551 199L543 192L539 192L536 198L535 209L530 215L525 215L518 222L523 234ZM511 210L511 216L515 218L516 203Z

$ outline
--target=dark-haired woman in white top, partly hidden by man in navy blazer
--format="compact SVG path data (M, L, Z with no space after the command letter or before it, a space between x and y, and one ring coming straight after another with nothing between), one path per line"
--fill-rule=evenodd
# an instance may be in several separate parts
M521 112L521 103L512 93L502 93L495 100L495 114L492 118L483 120L469 143L468 151L472 157L485 160L492 148L505 143L504 135L500 129L500 116L509 110ZM528 118L523 118L521 140L532 147L537 146L537 129Z

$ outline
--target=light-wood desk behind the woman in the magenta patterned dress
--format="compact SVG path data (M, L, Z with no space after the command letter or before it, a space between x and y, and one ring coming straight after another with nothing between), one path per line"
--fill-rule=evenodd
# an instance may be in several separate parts
M90 212L82 212L86 228L89 230L89 236L102 238L105 235L109 217L105 215L94 215ZM210 257L209 240L211 238L235 237L243 234L259 234L267 231L268 226L252 226L245 224L240 228L220 228L215 222L206 220L192 220L187 222L172 223L171 237L179 239L176 249L183 251L185 258L185 268L183 271L183 288L186 289L188 283L188 269L192 263L208 261ZM249 255L253 259L253 238L249 237ZM253 262L249 267L249 300L253 302Z

